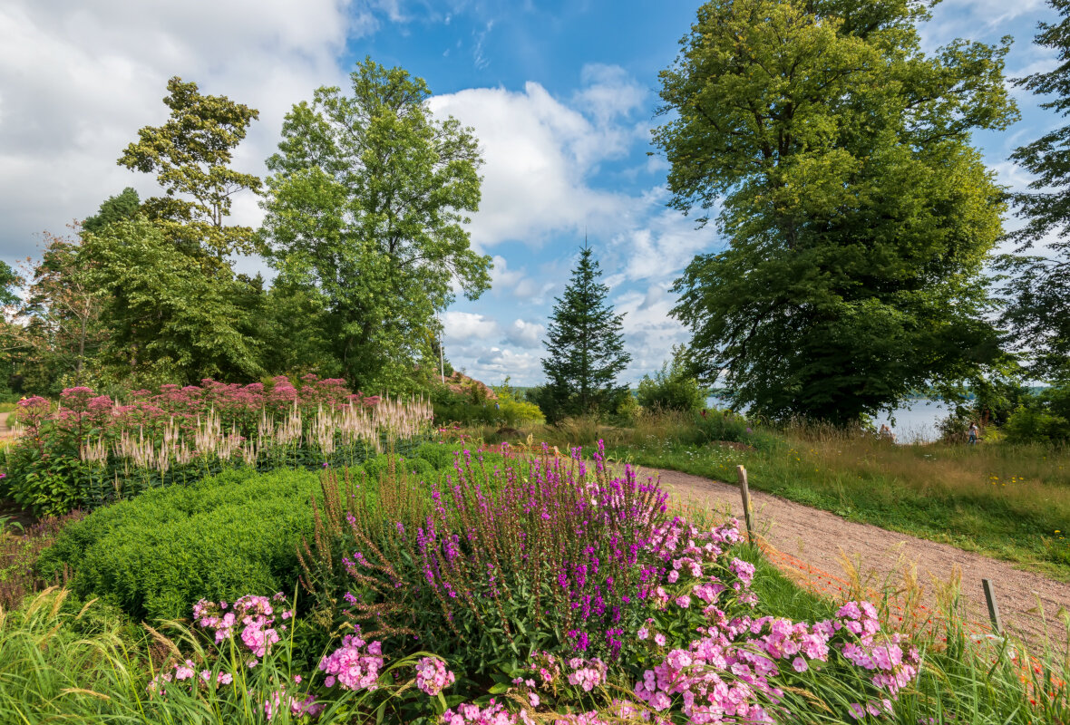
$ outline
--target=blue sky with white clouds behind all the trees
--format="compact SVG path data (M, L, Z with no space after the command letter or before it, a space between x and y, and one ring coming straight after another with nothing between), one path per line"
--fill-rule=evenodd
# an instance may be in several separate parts
M494 259L494 287L446 312L454 365L488 383L540 382L547 318L586 232L627 313L635 382L687 338L669 315L673 279L693 254L719 248L712 228L664 206L667 166L647 155L657 74L699 4L189 0L133 13L122 0L0 0L0 257L34 254L36 233L62 230L124 186L155 191L114 159L137 128L164 120L168 77L261 110L235 166L263 173L290 106L343 84L370 56L424 77L434 112L472 125L484 149L471 231ZM1053 65L1031 43L1036 22L1051 17L1040 0L946 0L922 32L929 49L1013 35L1014 77ZM999 179L1021 187L1028 180L1008 154L1058 119L1014 93L1023 120L977 142ZM235 204L236 219L259 217L256 199Z

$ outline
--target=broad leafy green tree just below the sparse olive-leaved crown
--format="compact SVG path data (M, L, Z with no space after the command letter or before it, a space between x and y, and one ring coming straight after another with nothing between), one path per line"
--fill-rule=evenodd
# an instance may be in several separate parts
M116 374L141 374L142 384L160 376L194 383L260 375L258 344L243 330L236 304L241 283L229 271L207 274L156 223L139 216L87 234L79 260L106 295L104 354Z

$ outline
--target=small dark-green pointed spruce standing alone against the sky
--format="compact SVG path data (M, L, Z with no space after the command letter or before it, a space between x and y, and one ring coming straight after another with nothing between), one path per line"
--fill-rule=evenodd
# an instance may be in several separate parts
M598 262L584 244L564 295L554 299L547 330L549 355L542 358L547 384L536 402L551 422L608 412L627 391L616 383L631 360L624 351L624 314L613 313L606 300L609 288L599 277Z

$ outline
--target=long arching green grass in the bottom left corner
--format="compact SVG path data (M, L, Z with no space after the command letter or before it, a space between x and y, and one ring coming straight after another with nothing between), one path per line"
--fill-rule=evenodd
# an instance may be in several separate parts
M291 711L290 695L302 703L311 692L324 706L316 719L321 725L373 722L377 711L396 711L399 695L409 703L416 699L417 714L427 711L427 698L413 698L407 678L416 658L393 660L379 689L323 689L316 663L326 652L322 647L308 651L309 643L294 636L294 630L308 629L301 619L289 620L271 652L249 667L247 650L233 639L215 645L196 627L178 622L153 622L158 629L148 631L123 622L100 602L79 610L68 595L43 592L19 610L0 612L0 713L5 725L58 720L82 725L294 725L309 718ZM286 603L275 604L281 608ZM225 674L232 685L178 687L171 679L160 696L153 679L174 677L178 652L194 663L198 675L207 672L214 681ZM197 676L187 684L196 681ZM265 704L278 700L281 707L269 714ZM408 716L385 722L426 721Z

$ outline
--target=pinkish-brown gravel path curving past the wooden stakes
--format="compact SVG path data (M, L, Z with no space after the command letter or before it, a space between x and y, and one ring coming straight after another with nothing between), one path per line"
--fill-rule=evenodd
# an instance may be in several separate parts
M658 474L661 482L684 499L708 508L730 508L743 520L739 489L700 476L675 471L642 468L646 475ZM988 619L981 579L996 587L1004 626L1020 634L1038 637L1043 626L1036 614L1037 600L1043 604L1049 628L1057 626L1059 607L1070 608L1070 584L1063 584L1041 574L1021 571L1009 561L991 559L964 552L954 546L918 539L907 534L888 531L870 524L845 521L827 511L784 500L771 494L751 491L752 506L760 528L775 547L801 561L838 576L844 575L840 551L849 556L860 555L862 567L882 579L900 561L916 562L918 581L931 590L931 577L946 582L954 567L962 571L962 595L977 620ZM763 526L764 525L764 526ZM1031 612L1030 612L1031 611Z

